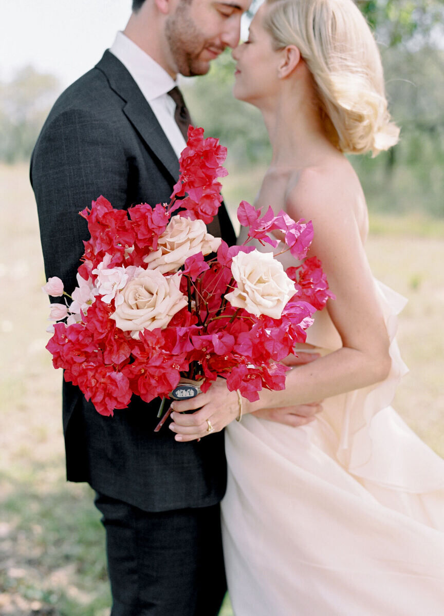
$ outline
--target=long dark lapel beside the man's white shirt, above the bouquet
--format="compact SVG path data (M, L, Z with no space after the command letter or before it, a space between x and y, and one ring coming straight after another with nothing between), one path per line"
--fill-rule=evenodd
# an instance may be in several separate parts
M176 182L179 177L178 158L138 84L109 51L105 51L96 68L107 76L110 87L125 101L123 113Z

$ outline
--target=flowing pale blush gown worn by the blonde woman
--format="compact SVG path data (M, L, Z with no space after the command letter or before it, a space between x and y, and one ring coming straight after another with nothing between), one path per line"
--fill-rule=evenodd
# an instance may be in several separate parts
M246 416L226 429L235 616L444 614L444 461L390 407L405 302L376 285L392 341L383 383L324 401L303 428ZM328 328L308 341L331 342Z

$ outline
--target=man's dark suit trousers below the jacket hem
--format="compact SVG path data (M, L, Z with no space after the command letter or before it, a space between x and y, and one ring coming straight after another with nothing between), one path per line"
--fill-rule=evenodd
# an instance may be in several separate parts
M226 592L219 505L150 513L96 496L111 616L216 616Z

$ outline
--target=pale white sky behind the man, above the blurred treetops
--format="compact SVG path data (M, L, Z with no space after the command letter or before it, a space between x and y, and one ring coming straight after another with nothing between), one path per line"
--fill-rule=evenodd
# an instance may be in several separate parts
M64 86L101 59L131 0L0 0L0 81L33 65Z

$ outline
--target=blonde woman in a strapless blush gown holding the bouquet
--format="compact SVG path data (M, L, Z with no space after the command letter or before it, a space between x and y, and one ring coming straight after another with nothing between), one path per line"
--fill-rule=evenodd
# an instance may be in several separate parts
M308 330L319 359L289 371L285 391L245 401L241 422L223 380L174 403L176 440L228 424L234 614L440 616L444 461L390 407L406 370L395 340L405 300L372 277L364 195L344 156L398 140L376 43L352 0L268 0L233 56L234 95L261 110L273 145L255 205L313 221L309 256L336 296ZM265 418L320 399L298 428Z

